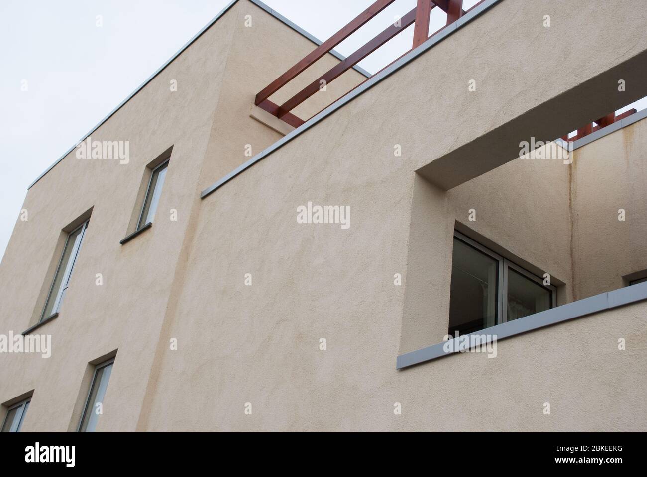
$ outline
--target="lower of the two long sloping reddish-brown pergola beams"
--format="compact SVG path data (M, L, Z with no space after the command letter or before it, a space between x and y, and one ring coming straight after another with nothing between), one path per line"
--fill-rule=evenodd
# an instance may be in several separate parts
M430 6L430 8L434 7L435 5ZM408 26L411 25L411 23L415 21L416 11L417 8L413 8L413 10L411 10L408 14L400 18L399 26L395 24L390 25L388 28L386 28L386 30L378 34L378 36L376 36L375 38L371 39L371 41L366 43L366 45L364 45L362 48L356 50L348 58L344 59L344 61L334 65L333 68L322 74L322 76L320 76L319 78L315 79L300 92L292 96L292 98L285 101L285 103L283 103L279 108L279 118L283 118L283 116L289 111L292 111L292 109L303 103L303 101L310 98L310 96L313 96L313 94L315 94L319 90L322 81L325 81L323 84L329 85L334 81L334 79L338 78L339 76L344 74L344 72L355 66L356 63L369 56L369 54L373 53L375 50L377 50L377 48L384 45L384 43L389 41L389 39L404 31Z

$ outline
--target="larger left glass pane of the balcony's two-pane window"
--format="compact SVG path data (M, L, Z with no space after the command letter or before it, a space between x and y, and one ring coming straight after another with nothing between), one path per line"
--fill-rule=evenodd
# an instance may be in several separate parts
M498 260L454 238L449 334L469 334L496 323Z

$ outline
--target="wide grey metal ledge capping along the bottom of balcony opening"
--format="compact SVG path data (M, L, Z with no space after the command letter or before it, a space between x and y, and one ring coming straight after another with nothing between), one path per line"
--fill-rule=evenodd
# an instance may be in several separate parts
M553 324L562 323L575 318L584 317L591 313L603 312L617 306L624 306L626 304L635 303L647 299L647 282L626 286L619 290L608 291L600 293L593 297L585 298L583 300L574 301L545 312L535 313L523 318L519 318L507 323L497 324L490 328L485 328L481 332L476 332L469 335L470 347L475 343L489 343L493 341L492 337L496 336L497 340L509 338L515 335L531 332L544 328L545 326L552 326ZM490 335L487 340L481 341L482 335ZM456 338L454 338L456 340ZM450 340L451 341L451 340ZM417 365L424 363L424 361L431 361L446 355L454 354L454 349L457 349L457 342L454 346L446 346L448 341L443 343L433 344L420 350L412 351L399 355L395 360L395 368L402 369L407 366ZM450 348L450 350L446 350Z

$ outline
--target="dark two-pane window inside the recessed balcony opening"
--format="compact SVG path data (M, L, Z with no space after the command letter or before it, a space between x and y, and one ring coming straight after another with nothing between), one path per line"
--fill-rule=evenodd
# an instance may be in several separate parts
M470 334L556 306L556 288L454 233L449 334Z

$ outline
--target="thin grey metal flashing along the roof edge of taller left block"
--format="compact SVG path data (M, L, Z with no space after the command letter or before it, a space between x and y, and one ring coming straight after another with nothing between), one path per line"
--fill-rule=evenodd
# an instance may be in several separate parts
M265 5L265 3L263 3L263 2L261 2L261 1L259 1L259 0L249 0L249 1L250 1L251 3L253 3L254 5L258 6L259 8L261 8L262 10L265 10L265 12L269 13L271 16L273 16L274 18L278 19L278 20L279 20L279 21L281 21L282 23L285 23L285 25L286 25L286 26L289 26L289 28L292 28L292 30L294 30L295 32L297 32L297 33L301 34L302 36L306 37L307 39L309 39L310 41L312 41L315 45L319 46L319 45L321 45L321 44L322 44L322 41L318 40L316 37L312 36L311 34L309 34L308 32L306 32L305 30L303 30L303 28L301 28L300 26L295 25L294 23L292 23L291 21L289 21L289 19L285 18L284 16L282 16L282 15L281 15L281 14L279 14L278 12L275 12L275 11L274 11L274 10L272 10L269 6ZM171 56L171 58L170 58L170 59L168 59L168 61L166 61L166 63L164 63L164 65L160 66L160 67L159 67L159 69L157 69L153 74L151 74L151 76L149 76L149 78L148 78L148 79L146 79L146 81L144 81L144 83L142 83L141 85L139 85L139 86L137 87L137 89L135 89L135 91L133 91L131 94L129 94L129 96L128 96L124 101L122 101L121 103L119 103L119 105L118 105L115 109L113 109L113 111L109 112L109 113L108 113L108 115L107 115L107 116L105 116L105 118L104 118L104 119L102 119L100 122L98 122L98 123L97 123L97 124L96 124L96 125L95 125L91 130L90 130L90 131L88 131L88 132L87 132L87 133L86 133L86 134L85 134L85 135L84 135L80 140L78 140L77 144L78 144L79 142L82 142L82 141L84 141L85 139L87 139L87 137L88 137L90 134L94 133L94 131L96 131L97 129L99 129L99 127L100 127L103 123L105 123L107 120L109 120L109 119L113 116L113 114L115 114L115 112L119 111L119 110L122 108L122 106L123 106L123 105L125 105L128 101L130 101L130 100L133 98L133 96L135 96L135 94L137 94L138 92L140 92L140 90L142 90L146 85L148 85L148 83L150 83L150 82L153 80L153 78L155 78L155 76L157 76L158 74L160 74L160 72L162 72L162 70L164 70L166 67L168 67L168 65L170 65L170 64L171 64L171 62L172 62L175 58L177 58L178 56L180 56L180 55L182 54L182 52L184 52L184 50L186 50L186 48L190 47L190 46L192 45L192 43L193 43L195 40L197 40L199 37L201 37L201 36L202 36L202 34L203 34L204 32L206 32L206 30L208 30L209 28L211 28L211 26L212 26L212 25L214 25L214 23L215 23L215 22L217 22L217 21L218 21L218 20L219 20L223 15L225 15L225 14L226 14L226 12L228 12L228 11L230 10L230 8L232 8L232 6L236 5L236 3L238 3L238 0L232 0L232 1L227 5L227 6L225 6L225 8L223 8L223 10L221 10L221 12L219 12L219 14L217 14L217 15L216 15L216 16L215 16L215 17L214 17L214 18L213 18L209 23L207 23L207 24L202 28L202 30L200 30L199 32L197 32L197 34L195 34L195 36L193 36L193 37L192 37L192 39L190 39L189 41L187 41L187 42L184 44L184 46L183 46L182 48L180 48L179 50L177 50L177 52L175 52L175 54L173 54L173 56ZM341 54L339 54L338 52L336 52L336 51L334 51L334 50L333 50L333 51L331 51L331 54L333 54L333 56L335 56L336 58L338 58L338 59L340 59L340 60L342 60L342 61L344 61L344 59L345 59L345 57L344 57L344 56L342 56ZM367 72L365 69L363 69L363 68L361 68L361 67L358 67L357 65L355 65L355 67L353 67L353 69L355 69L355 70L356 70L357 72L359 72L360 74L362 74L362 75L366 76L367 78L370 78L370 77L371 77L371 74L370 74L369 72ZM75 145L73 145L70 149L68 149L68 150L67 150L67 152L65 152L65 154L63 154L62 156L60 156L60 158L58 158L58 159L54 162L54 164L50 165L47 169L45 169L45 172L43 172L41 175L39 175L39 176L36 178L36 180L34 180L34 182L32 182L32 183L29 185L29 187L27 187L27 190L31 189L31 188L34 186L34 184L36 184L36 182L38 182L39 180L41 180L41 178L43 178L43 176L45 176L47 173L49 173L49 171L51 171L52 169L54 169L54 167L56 167L56 165L57 165L59 162L61 162L61 161L63 160L63 158L65 158L65 156L67 156L67 154L69 154L69 153L71 153L72 151L74 151L74 147L76 147L76 144L75 144Z

